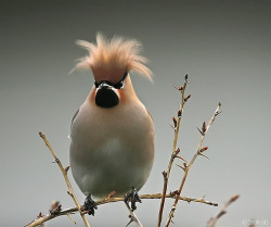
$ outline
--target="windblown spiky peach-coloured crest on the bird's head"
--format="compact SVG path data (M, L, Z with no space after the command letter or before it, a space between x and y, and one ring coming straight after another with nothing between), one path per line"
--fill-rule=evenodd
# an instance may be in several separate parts
M136 39L113 37L108 40L98 34L96 45L83 40L77 40L77 45L87 49L89 54L78 60L75 70L92 70L98 83L117 83L127 71L136 71L152 80L152 72L145 66L147 60L139 55L141 43Z

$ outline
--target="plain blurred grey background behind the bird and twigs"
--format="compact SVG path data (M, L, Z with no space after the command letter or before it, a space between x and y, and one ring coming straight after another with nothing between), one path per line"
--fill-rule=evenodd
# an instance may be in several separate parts
M9 2L9 3L8 3ZM172 88L188 73L188 92L180 147L191 160L199 141L196 127L209 121L218 101L223 112L206 137L210 160L192 167L183 196L218 202L240 193L219 225L246 226L250 218L270 215L270 85L271 4L269 1L7 1L0 8L0 152L1 226L24 226L52 200L74 206L52 156L39 138L47 135L64 165L68 165L70 118L93 84L90 72L76 72L74 60L86 52L76 39L106 36L137 38L150 59L154 84L132 74L136 91L153 115L156 157L141 193L160 192L162 172L170 156L169 127L180 96ZM169 190L182 171L173 166ZM70 180L78 199L83 196ZM165 217L171 200L167 200ZM155 226L158 201L143 201L138 216ZM180 202L175 226L206 226L217 207ZM122 203L103 205L91 226L125 226ZM79 215L74 215L82 226ZM165 222L166 218L164 218ZM74 226L59 217L48 226Z

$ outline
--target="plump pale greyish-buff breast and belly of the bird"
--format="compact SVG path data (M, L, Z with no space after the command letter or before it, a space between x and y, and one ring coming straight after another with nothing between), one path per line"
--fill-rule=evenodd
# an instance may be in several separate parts
M85 194L125 194L146 181L154 159L154 128L145 108L121 112L85 103L72 126L70 166Z

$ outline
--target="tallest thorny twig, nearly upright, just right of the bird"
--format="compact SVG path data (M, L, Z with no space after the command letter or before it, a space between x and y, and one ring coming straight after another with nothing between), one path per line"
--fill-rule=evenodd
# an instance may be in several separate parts
M176 157L176 150L177 150L177 141L178 141L178 136L179 136L179 130L180 130L180 124L181 124L181 117L182 117L182 112L183 112L183 105L184 105L184 91L188 85L188 74L184 77L184 84L183 87L181 89L181 103L180 103L180 108L179 108L179 112L178 112L178 119L177 119L177 125L175 127L175 139L173 139L173 147L172 147L172 153L171 153L171 157L169 160L168 163L168 168L167 172L163 173L164 175L164 186L163 186L163 197L160 200L160 207L159 207L159 214L158 214L158 224L157 227L160 227L162 224L162 218L163 218L163 212L164 212L164 205L165 205L165 200L166 200L166 193L167 193L167 187L168 187L168 179L169 179L169 175L171 172L171 167Z

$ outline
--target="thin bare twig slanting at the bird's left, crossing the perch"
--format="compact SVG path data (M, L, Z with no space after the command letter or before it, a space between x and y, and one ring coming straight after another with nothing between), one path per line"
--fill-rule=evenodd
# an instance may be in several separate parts
M77 210L79 211L79 213L80 213L80 215L81 215L81 218L82 218L82 220L83 220L85 226L86 226L86 227L90 227L87 217L85 216L83 213L81 213L81 206L80 206L78 200L76 199L76 196L75 196L75 193L74 193L74 190L73 190L73 188L72 188L72 185L70 185L70 182L69 182L69 179L68 179L68 177L67 177L67 172L64 169L64 167L63 167L61 161L57 159L56 154L54 153L54 151L53 151L51 144L49 143L49 141L48 141L47 138L46 138L46 135L43 135L42 133L39 133L39 136L43 139L43 141L46 142L47 147L48 147L49 150L51 151L51 153L52 153L52 155L53 155L53 157L54 157L56 164L59 165L59 167L60 167L60 169L61 169L61 172L62 172L62 174L63 174L63 176L64 176L64 179L65 179L65 181L66 181L66 185L67 185L67 187L68 187L68 194L69 194L69 196L72 197L72 199L74 200L74 202L75 202L75 204L76 204L76 207L77 207ZM35 225L33 225L33 224L28 225L28 227L31 227L31 226L35 226Z

